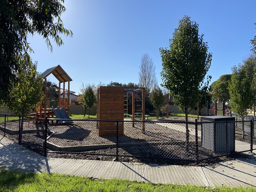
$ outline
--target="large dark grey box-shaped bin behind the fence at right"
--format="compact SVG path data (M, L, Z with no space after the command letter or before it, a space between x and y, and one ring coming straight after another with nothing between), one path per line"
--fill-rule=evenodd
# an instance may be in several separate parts
M205 116L202 122L202 147L215 154L226 154L235 151L235 117Z

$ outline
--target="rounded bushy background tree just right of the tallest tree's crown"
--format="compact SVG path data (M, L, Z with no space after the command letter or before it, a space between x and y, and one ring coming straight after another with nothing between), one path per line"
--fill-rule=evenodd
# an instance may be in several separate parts
M231 74L225 74L220 76L220 78L210 85L210 90L212 91L212 94L219 94L220 95L220 101L223 99L225 101L230 100L230 94L228 91L228 84L231 80ZM213 100L215 100L216 97L213 96Z

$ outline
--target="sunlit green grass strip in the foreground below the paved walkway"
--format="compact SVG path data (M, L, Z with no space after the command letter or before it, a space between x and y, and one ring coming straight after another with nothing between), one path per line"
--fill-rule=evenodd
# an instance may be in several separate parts
M199 187L152 184L120 179L98 179L48 173L24 173L0 169L1 192L253 192L255 188Z

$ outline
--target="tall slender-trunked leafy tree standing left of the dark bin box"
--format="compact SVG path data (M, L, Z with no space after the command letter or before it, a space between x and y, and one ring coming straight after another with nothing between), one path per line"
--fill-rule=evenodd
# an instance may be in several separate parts
M162 84L175 98L180 110L185 113L186 150L189 144L188 113L199 101L199 90L208 86L211 76L203 84L210 68L212 54L207 54L208 46L203 42L203 34L198 35L198 24L184 16L174 30L170 40L170 50L160 48L162 57Z

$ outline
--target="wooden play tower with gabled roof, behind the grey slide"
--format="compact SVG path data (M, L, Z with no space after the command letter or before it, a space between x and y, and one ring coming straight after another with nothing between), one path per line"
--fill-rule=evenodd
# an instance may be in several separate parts
M37 118L45 118L46 115L52 114L53 116L53 111L51 106L48 106L46 101L46 96L47 96L47 88L46 88L46 82L47 82L47 77L53 74L54 77L59 81L59 94L58 94L58 106L64 106L66 108L68 115L69 115L69 104L70 104L70 81L72 79L68 74L62 69L60 65L54 66L52 68L47 69L45 72L42 73L42 78L44 79L44 106L42 108L42 103L40 106L36 109L36 117ZM68 82L68 98L65 98L65 82ZM61 83L63 83L63 99L62 102L60 100L60 86Z

